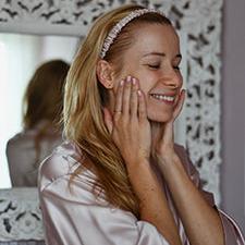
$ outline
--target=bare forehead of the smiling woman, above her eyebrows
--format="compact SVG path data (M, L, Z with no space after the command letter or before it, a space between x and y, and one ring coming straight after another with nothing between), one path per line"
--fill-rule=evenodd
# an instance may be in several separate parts
M171 25L140 24L135 28L130 52L139 56L146 52L164 52L175 56L180 52L179 36Z

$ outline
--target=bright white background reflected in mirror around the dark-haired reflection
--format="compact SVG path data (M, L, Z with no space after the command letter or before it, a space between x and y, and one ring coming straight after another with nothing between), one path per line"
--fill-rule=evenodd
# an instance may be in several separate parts
M23 131L22 103L30 77L46 61L70 63L78 41L77 37L0 34L0 188L11 187L5 147Z

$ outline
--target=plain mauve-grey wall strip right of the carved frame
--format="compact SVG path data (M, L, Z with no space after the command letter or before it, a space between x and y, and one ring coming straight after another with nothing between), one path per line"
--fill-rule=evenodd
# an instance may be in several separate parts
M222 46L222 207L245 233L245 1L224 0Z

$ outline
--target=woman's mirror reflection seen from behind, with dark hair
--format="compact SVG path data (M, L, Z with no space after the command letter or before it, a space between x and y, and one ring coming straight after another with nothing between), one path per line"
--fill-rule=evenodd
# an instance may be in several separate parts
M12 186L37 186L39 162L62 143L63 84L70 65L62 60L42 63L32 76L23 100L24 130L7 145Z

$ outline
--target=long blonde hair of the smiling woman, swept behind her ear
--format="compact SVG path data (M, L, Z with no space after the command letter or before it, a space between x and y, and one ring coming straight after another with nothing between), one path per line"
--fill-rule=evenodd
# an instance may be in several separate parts
M109 102L108 93L96 75L106 36L120 20L136 9L143 7L124 5L95 22L68 74L63 120L65 137L74 142L93 162L98 176L96 185L105 191L108 201L138 217L138 200L128 181L124 161L103 121L102 107ZM147 13L123 27L103 58L114 64L118 73L123 65L123 51L132 45L135 28L140 23L171 25L163 15Z

